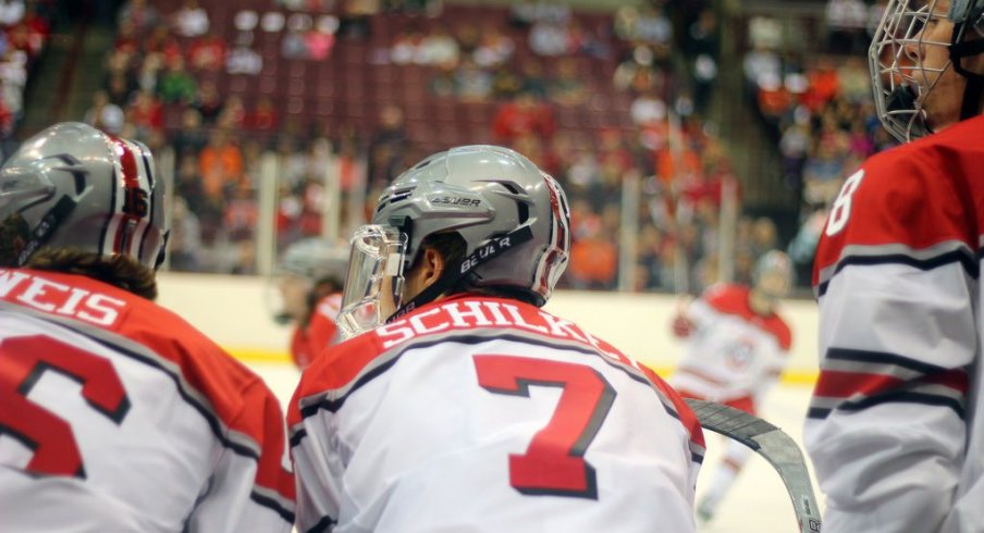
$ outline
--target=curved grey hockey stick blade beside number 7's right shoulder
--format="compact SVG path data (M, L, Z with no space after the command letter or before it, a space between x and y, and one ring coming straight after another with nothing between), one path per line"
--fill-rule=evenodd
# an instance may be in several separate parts
M686 399L697 420L708 430L734 438L764 457L786 485L801 532L819 532L820 507L813 496L813 484L807 462L796 442L783 430L734 407Z

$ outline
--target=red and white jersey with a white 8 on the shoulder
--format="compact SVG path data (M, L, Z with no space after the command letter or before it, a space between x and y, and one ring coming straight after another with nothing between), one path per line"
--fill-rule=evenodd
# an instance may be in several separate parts
M814 264L824 532L982 531L984 117L868 160Z

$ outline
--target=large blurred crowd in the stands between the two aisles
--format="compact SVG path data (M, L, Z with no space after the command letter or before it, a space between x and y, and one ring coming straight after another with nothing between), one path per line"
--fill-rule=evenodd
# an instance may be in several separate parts
M748 281L758 255L778 244L768 219L721 223L725 203L740 213L740 190L705 119L721 46L710 2L651 0L599 15L532 0L472 7L467 16L438 2L213 3L125 2L102 89L85 114L111 133L173 149L173 270L255 272L265 185L276 190L283 249L323 231L327 183L342 191L333 206L344 211L339 230L346 234L398 172L471 142L511 146L565 186L574 261L562 286L611 289L622 280L635 290L696 293L719 278L722 262ZM489 16L473 16L477 10ZM398 30L373 36L380 16ZM292 65L328 64L358 48L367 49L359 69L423 73L427 111L379 87L365 89L371 116L358 120L297 113L275 96L229 90L242 79L298 82L285 79L283 65L269 82L276 61L260 42L270 36L274 59ZM463 109L467 119L454 116ZM422 114L431 110L478 127L435 138L428 131L435 117ZM626 197L629 183L638 193ZM350 209L352 198L362 207ZM626 224L638 228L632 243L623 240ZM734 244L725 248L731 257L719 257L724 239ZM624 265L628 245L635 255Z

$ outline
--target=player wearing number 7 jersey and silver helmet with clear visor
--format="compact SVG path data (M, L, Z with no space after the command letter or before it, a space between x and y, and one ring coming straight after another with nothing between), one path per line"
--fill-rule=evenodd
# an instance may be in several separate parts
M353 238L288 409L300 531L693 531L703 437L652 371L540 307L567 200L499 147L425 159Z

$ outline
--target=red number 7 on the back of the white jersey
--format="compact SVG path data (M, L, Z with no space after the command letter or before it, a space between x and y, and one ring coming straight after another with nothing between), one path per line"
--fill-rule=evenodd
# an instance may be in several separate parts
M615 388L583 364L514 356L475 356L482 388L529 397L530 386L561 387L550 422L526 454L509 455L509 484L522 494L598 499L594 467L585 460L615 400Z

